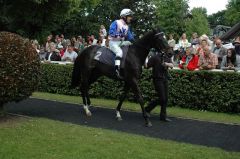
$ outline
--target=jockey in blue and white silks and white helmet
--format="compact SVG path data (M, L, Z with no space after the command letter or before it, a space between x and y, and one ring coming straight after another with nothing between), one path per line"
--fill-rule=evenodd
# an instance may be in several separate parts
M115 69L118 77L120 76L120 62L122 58L122 49L123 45L130 45L129 41L133 41L134 37L131 33L128 24L131 23L133 16L133 11L130 9L123 9L120 13L120 19L115 20L110 25L109 35L110 42L109 48L116 54L115 58Z

